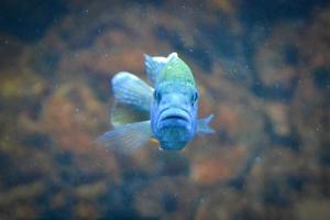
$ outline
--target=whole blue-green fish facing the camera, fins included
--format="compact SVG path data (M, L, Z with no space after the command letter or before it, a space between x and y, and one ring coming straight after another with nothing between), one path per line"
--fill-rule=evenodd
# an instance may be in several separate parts
M119 72L111 79L113 130L97 138L97 144L134 152L155 140L160 150L179 151L196 134L215 133L209 125L213 114L197 118L197 85L177 53L167 57L144 54L144 65L153 87L129 72Z

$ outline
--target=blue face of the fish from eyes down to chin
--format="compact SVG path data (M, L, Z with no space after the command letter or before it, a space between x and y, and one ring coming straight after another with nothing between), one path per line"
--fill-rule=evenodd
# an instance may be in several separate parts
M182 150L193 140L197 125L198 94L196 89L155 89L151 125L163 150Z

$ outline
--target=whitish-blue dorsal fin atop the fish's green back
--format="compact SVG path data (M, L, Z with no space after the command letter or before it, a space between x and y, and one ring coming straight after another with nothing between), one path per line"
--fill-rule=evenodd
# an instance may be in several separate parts
M177 57L177 53L172 53L167 57L144 54L145 73L151 82L155 84L157 75L173 57Z

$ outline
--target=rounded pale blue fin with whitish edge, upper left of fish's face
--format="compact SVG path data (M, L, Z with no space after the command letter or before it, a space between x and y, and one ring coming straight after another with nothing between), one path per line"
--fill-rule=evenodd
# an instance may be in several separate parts
M150 111L154 89L142 79L128 72L120 72L112 78L111 82L118 102Z

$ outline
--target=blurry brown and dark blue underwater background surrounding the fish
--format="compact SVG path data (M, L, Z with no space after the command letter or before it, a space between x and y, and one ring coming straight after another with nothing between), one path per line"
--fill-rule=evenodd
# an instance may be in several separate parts
M330 219L329 30L322 0L1 1L0 219ZM172 52L217 133L91 144Z

